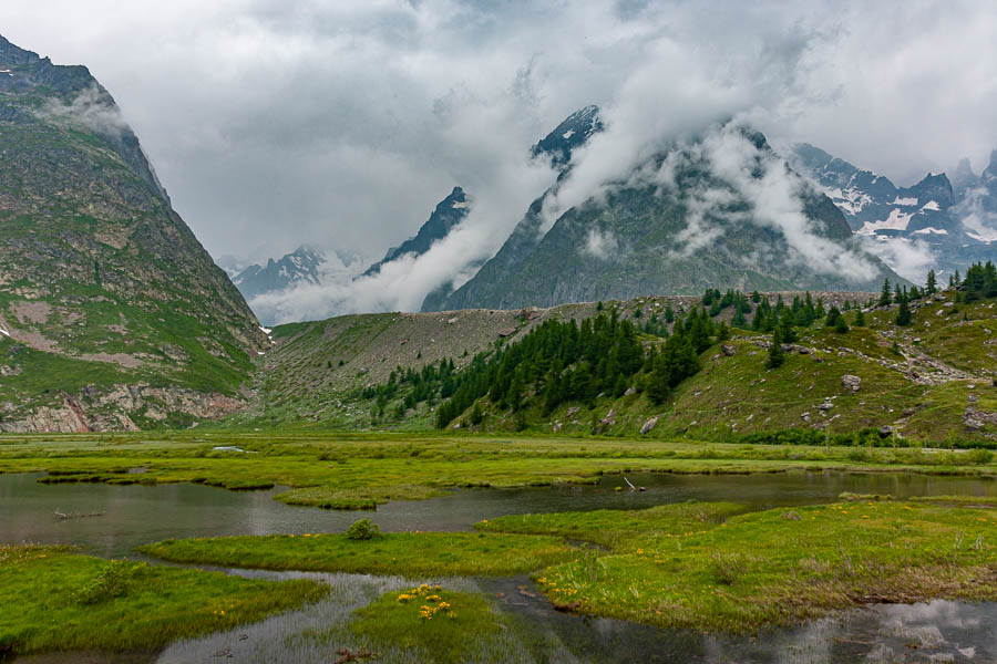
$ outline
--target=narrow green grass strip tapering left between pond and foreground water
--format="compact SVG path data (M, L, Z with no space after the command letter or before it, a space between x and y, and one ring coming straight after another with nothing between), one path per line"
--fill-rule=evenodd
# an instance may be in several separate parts
M140 548L173 562L267 570L417 577L505 577L565 562L577 550L554 536L482 532L273 535L164 540Z

